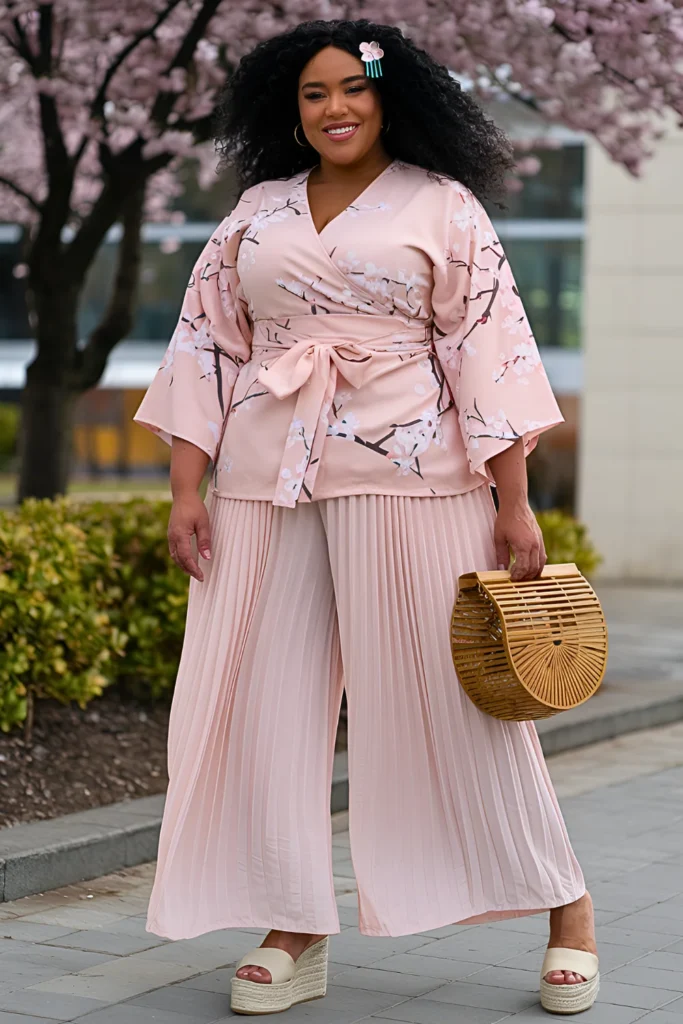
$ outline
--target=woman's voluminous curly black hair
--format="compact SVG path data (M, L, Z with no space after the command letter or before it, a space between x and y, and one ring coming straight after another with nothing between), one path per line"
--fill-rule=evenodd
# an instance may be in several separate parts
M503 131L442 65L399 29L374 22L306 22L259 43L240 61L219 97L214 120L219 169L237 170L240 186L288 178L317 163L312 146L294 138L299 76L326 46L359 56L362 41L384 50L377 86L390 157L446 175L480 199L498 201L513 166Z

